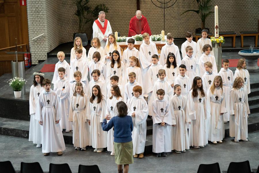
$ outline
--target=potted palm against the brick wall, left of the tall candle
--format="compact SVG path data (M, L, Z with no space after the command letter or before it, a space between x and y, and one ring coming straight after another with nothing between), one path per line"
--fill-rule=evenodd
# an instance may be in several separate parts
M210 32L209 28L205 28L205 20L208 16L210 16L210 14L213 13L213 11L211 11L213 8L213 5L211 4L212 0L194 0L194 1L197 2L198 10L186 10L182 14L184 14L186 12L197 13L199 15L199 17L201 18L201 28L196 28L195 33L201 33L201 30L203 30L203 29L207 29Z

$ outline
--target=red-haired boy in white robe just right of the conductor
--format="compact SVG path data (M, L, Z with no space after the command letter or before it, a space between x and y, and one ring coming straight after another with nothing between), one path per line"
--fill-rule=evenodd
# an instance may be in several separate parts
M133 131L133 157L143 158L146 143L146 119L148 116L148 105L142 95L142 87L133 87L134 96L127 103L128 115L132 117Z

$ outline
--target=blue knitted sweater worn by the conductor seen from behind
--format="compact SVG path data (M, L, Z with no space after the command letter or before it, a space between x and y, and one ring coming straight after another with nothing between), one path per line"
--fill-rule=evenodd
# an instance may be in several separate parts
M132 141L133 122L131 116L114 116L108 124L106 119L103 119L103 131L109 131L112 127L114 127L114 142L125 143Z

